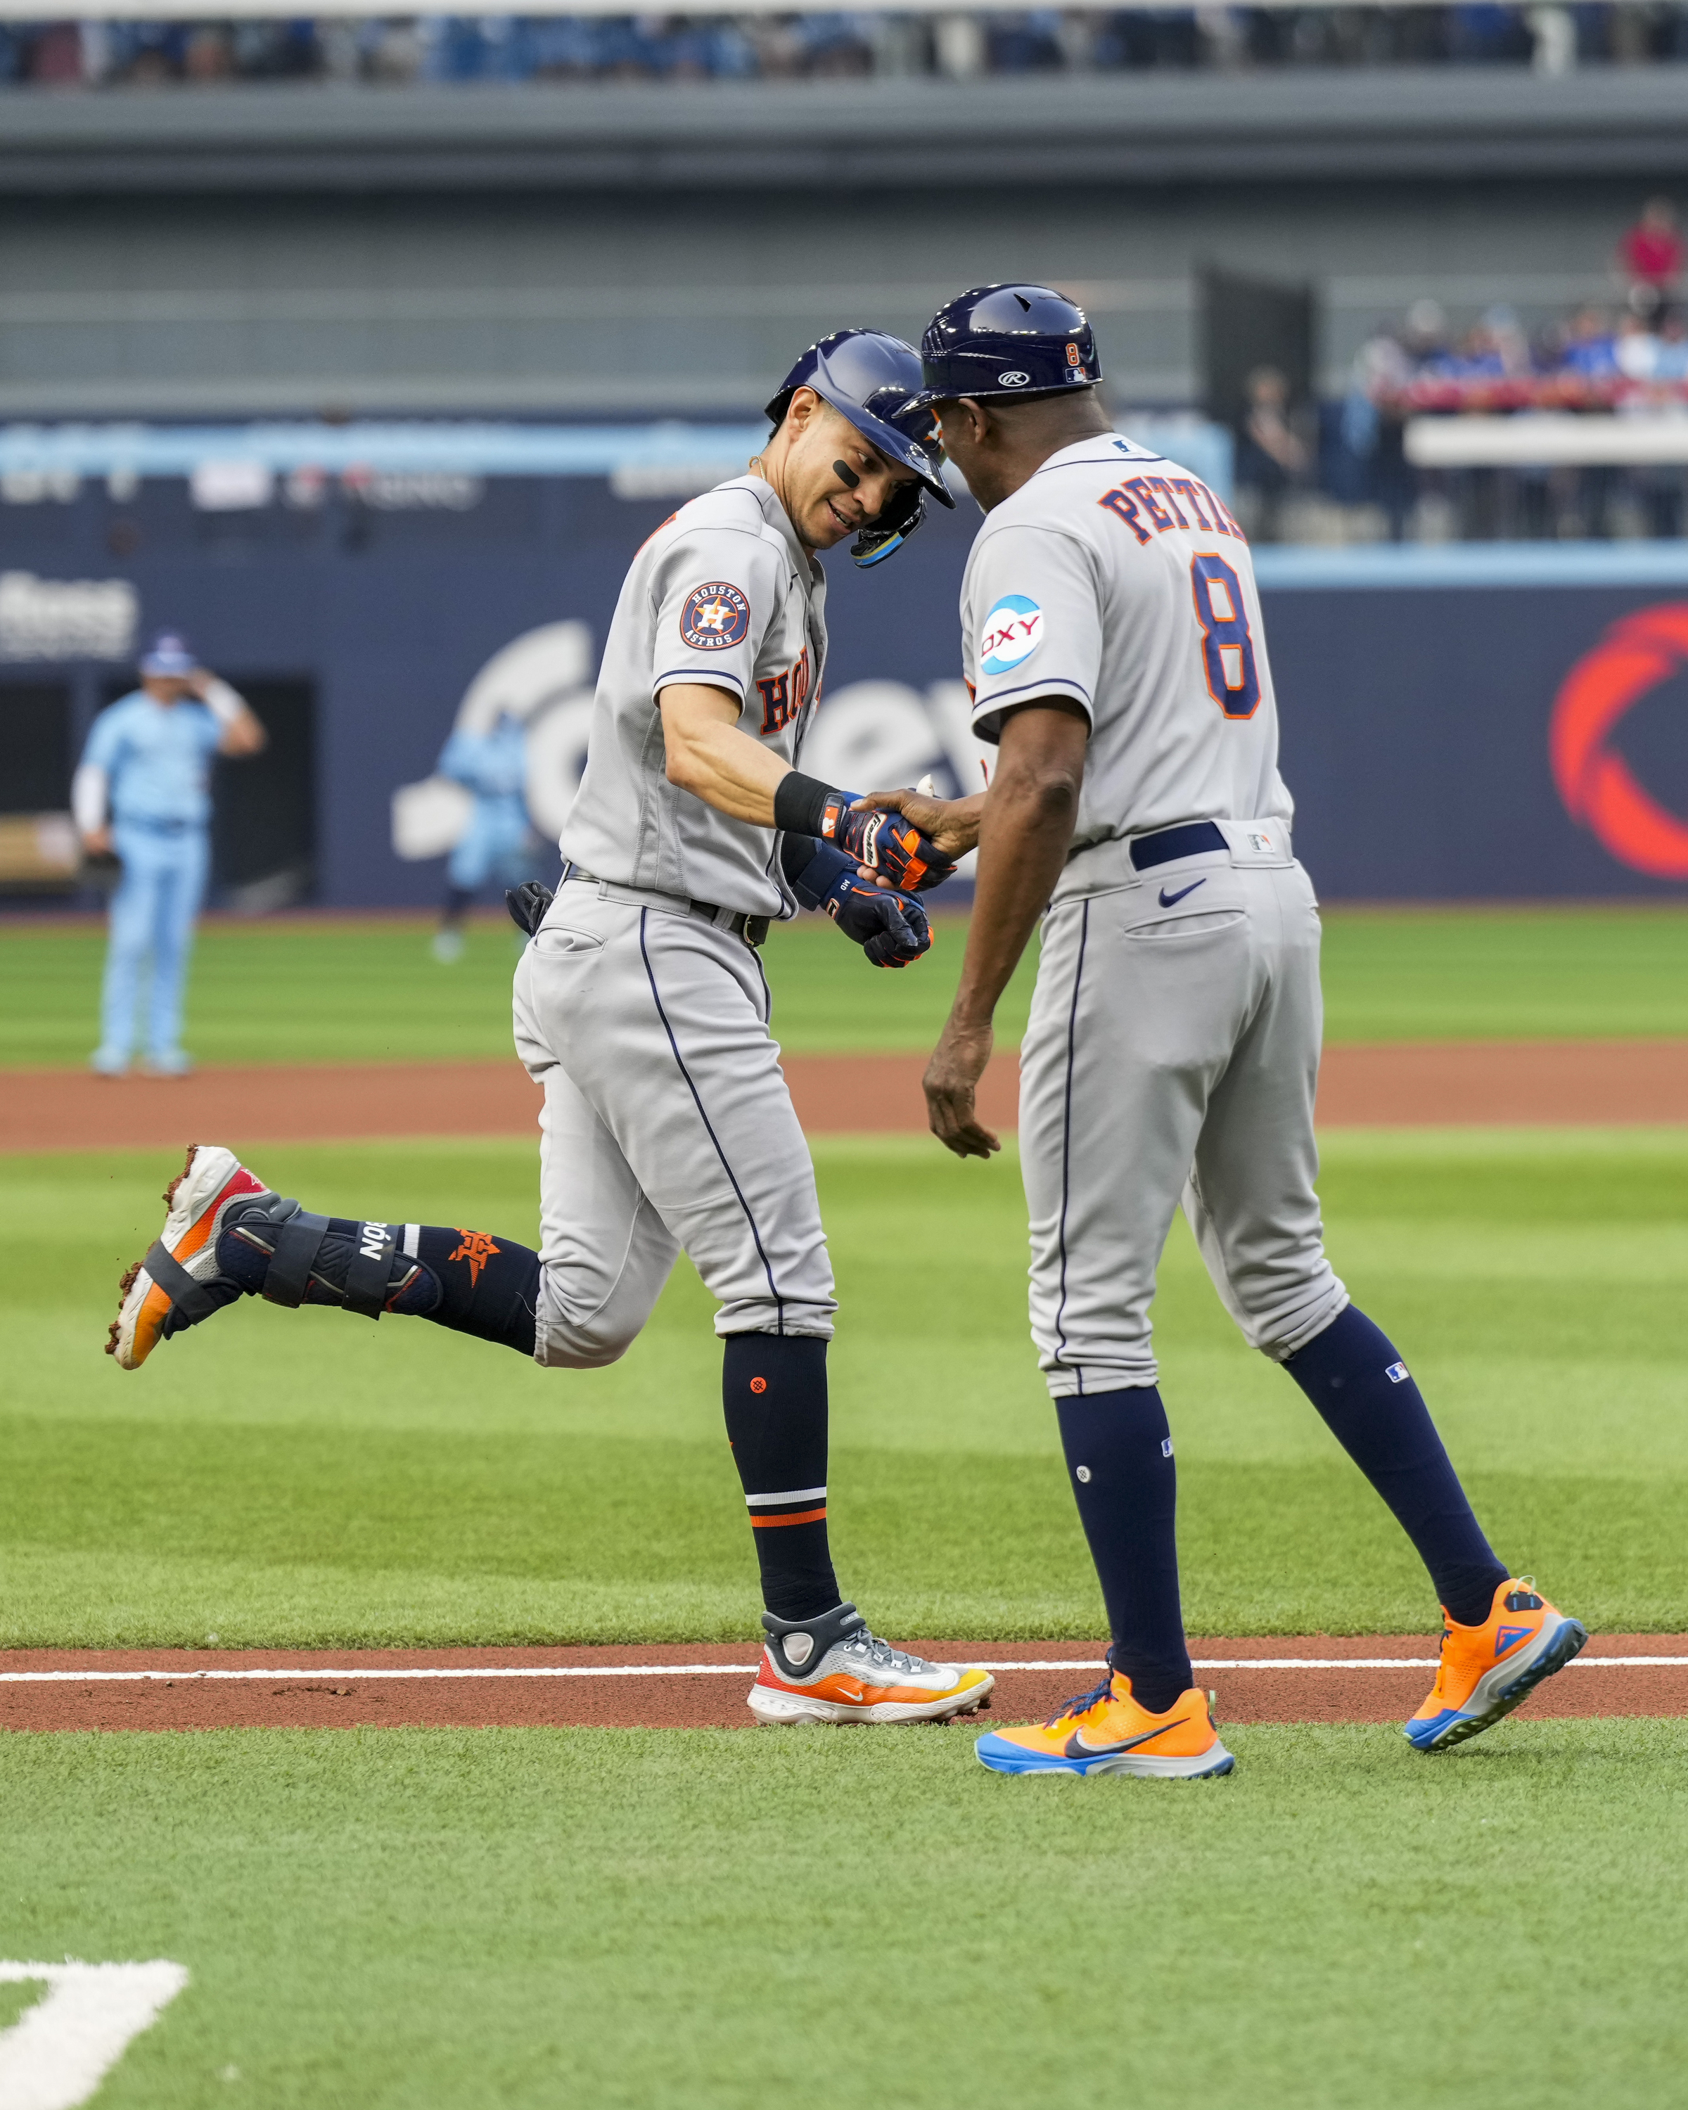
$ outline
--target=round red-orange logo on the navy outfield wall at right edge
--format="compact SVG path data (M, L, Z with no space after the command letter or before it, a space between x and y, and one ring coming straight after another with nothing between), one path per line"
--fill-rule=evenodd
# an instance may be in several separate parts
M1654 880L1688 880L1688 821L1642 789L1610 738L1625 713L1684 665L1688 601L1625 616L1566 675L1547 734L1566 812L1618 863Z

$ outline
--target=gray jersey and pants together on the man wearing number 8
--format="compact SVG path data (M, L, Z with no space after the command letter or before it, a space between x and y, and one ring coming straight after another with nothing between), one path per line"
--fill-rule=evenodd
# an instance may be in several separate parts
M1110 435L979 532L962 587L975 730L1091 726L1074 848L1021 1047L1032 1338L1053 1395L1154 1384L1179 1201L1245 1338L1293 1355L1348 1300L1315 1192L1319 914L1289 844L1253 565L1220 498ZM1131 838L1211 823L1148 846Z

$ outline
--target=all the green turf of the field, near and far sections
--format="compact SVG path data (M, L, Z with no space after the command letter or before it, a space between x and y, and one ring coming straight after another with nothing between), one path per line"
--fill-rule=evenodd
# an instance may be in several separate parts
M926 1044L958 941L865 981L836 933L779 933L785 1040ZM458 971L424 945L211 931L190 1044L506 1053L506 935ZM1667 912L1327 922L1355 1040L1680 1034L1684 966ZM97 968L97 933L0 939L0 1061L80 1061ZM249 1302L124 1376L114 1281L177 1163L0 1158L0 1644L755 1631L684 1264L608 1372ZM1015 1165L920 1137L821 1139L817 1165L846 1587L893 1633L1095 1639ZM519 1142L257 1169L312 1207L534 1234ZM1608 1631L1682 1631L1688 1129L1340 1131L1323 1196L1500 1551ZM1428 1633L1412 1555L1182 1226L1156 1321L1192 1629ZM1393 1728L1226 1741L1230 1781L1032 1787L966 1728L15 1734L0 1960L190 1969L112 2110L1682 2099L1686 1724L1523 1713L1445 1760ZM34 1994L0 1983L0 2030Z

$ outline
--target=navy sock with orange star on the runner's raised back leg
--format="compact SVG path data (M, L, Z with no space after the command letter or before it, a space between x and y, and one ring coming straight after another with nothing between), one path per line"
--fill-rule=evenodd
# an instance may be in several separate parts
M279 1226L251 1213L217 1239L217 1270L241 1289L262 1296ZM447 1230L435 1224L359 1224L329 1217L310 1260L302 1304L344 1304L352 1255L365 1232L390 1232L397 1249L388 1262L382 1310L433 1319L456 1334L475 1334L521 1355L534 1353L534 1310L540 1255L513 1239L483 1230ZM175 1312L171 1312L175 1319ZM165 1331L175 1331L167 1323Z

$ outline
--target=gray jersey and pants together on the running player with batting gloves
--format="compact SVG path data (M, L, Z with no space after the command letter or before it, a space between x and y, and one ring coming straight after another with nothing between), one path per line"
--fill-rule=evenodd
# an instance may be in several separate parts
M831 1334L808 1144L768 1032L762 962L726 918L789 914L768 827L667 779L658 692L707 682L795 755L825 660L823 576L772 490L682 506L627 574L561 836L574 878L515 975L515 1042L544 1087L534 1357L614 1363L684 1249L720 1334Z

